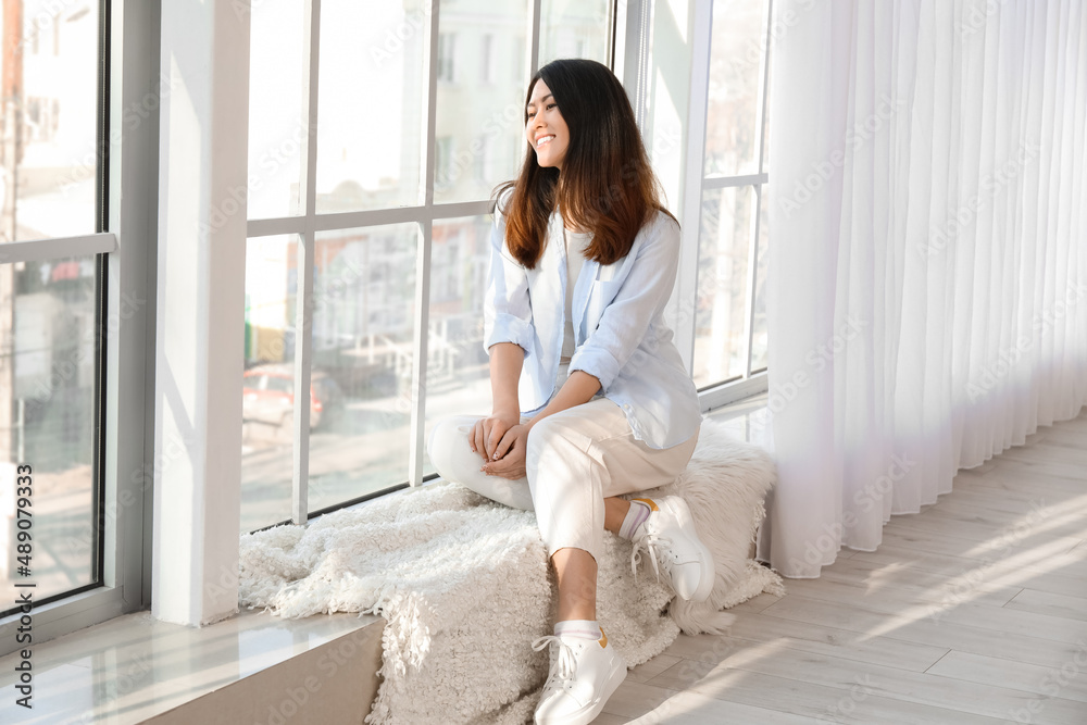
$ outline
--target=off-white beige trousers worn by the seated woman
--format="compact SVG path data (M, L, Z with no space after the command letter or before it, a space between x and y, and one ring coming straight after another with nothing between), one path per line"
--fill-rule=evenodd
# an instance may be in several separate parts
M468 436L477 415L442 418L430 430L427 452L438 474L489 499L535 510L548 555L603 549L604 499L675 479L687 466L698 433L672 448L650 448L634 437L623 411L607 398L549 415L528 434L526 477L488 476ZM527 418L522 418L522 423Z

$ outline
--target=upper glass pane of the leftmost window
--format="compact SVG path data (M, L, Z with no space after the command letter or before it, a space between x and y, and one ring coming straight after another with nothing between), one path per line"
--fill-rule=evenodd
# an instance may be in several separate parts
M48 4L4 3L18 27L0 54L0 241L97 232L98 3ZM126 109L125 128L159 98Z

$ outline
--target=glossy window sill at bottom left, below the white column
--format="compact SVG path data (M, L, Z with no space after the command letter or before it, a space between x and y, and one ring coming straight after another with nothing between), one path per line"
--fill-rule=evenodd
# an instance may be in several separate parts
M243 611L195 628L126 614L32 648L33 710L16 704L20 654L0 658L0 722L358 723L377 692L383 626Z

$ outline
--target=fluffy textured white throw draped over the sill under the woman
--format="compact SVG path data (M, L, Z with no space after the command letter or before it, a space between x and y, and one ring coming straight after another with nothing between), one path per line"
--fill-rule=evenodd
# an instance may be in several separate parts
M784 593L777 574L748 561L775 479L765 451L708 420L687 470L651 491L684 497L713 551L717 578L704 604L670 605L648 562L635 583L630 542L604 535L597 617L628 666L680 628L720 632L732 620L721 608ZM385 617L383 680L366 717L375 725L529 722L548 666L529 643L551 634L554 593L534 514L451 484L241 537L242 605Z

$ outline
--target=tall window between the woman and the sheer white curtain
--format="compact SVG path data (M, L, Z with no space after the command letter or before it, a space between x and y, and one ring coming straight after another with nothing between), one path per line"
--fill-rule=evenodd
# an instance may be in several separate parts
M770 0L714 0L692 376L699 388L766 368Z

